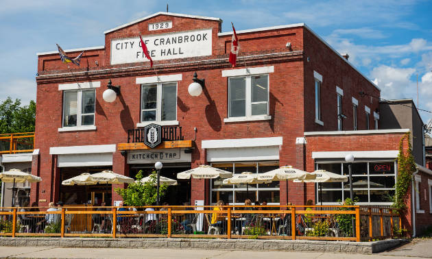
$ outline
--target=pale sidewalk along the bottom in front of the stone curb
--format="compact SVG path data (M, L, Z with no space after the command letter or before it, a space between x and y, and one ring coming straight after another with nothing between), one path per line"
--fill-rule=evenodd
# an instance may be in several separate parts
M429 256L432 256L432 249L429 247ZM193 250L193 249L128 249L128 248L51 248L51 247L0 247L0 258L179 258L179 259L402 259L405 255L387 256L363 255L363 254L341 254L341 253L320 253L320 252L287 252L287 251L226 251L226 250ZM412 259L419 257L410 257Z

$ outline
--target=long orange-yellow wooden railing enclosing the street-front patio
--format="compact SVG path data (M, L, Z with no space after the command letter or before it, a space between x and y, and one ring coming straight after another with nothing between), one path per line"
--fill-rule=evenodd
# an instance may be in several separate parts
M97 208L103 208L97 211ZM400 211L368 206L3 208L0 236L376 240L400 236ZM34 210L34 208L31 208ZM40 208L46 210L47 208ZM10 210L10 211L5 211Z

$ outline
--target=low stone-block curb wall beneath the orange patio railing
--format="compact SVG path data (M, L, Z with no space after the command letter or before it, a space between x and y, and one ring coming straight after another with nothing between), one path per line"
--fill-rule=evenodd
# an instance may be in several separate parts
M315 240L189 239L189 238L0 238L10 247L117 247L224 250L331 251L374 254L406 243L406 239L373 242Z

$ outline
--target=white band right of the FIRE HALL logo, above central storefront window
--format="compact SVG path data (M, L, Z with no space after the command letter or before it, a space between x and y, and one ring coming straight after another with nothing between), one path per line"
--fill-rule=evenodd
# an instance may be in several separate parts
M203 149L223 149L235 147L269 147L282 145L282 137L239 138L221 140L202 140Z

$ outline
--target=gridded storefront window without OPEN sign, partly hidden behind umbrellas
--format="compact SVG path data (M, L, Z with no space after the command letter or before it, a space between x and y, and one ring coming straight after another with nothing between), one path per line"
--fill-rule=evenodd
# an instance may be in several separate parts
M279 168L279 162L231 162L213 163L212 167L217 167L232 173L265 173ZM222 179L211 181L211 204L215 204L219 199L230 204L244 204L245 199L269 204L279 203L279 182L269 184L223 184Z

